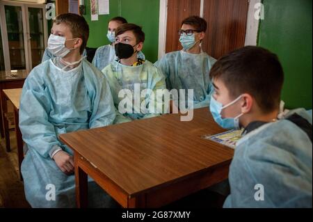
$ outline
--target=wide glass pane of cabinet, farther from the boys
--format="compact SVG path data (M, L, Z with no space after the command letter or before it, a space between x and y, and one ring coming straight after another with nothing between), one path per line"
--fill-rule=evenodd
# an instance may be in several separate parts
M6 12L11 70L25 70L22 8L19 6L4 6L4 9Z

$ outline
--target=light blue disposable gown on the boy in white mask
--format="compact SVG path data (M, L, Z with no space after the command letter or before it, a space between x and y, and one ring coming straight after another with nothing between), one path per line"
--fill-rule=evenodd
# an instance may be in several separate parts
M59 134L111 125L115 111L103 74L86 59L63 72L50 59L33 68L22 90L19 127L28 151L22 162L26 199L32 207L75 207L74 175L65 175L51 159L61 147ZM90 207L111 207L113 200L89 181ZM49 184L56 200L47 200ZM46 189L47 188L47 189Z

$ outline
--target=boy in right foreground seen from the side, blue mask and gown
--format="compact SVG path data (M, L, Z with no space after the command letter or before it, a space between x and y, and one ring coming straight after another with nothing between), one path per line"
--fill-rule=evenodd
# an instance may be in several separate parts
M278 57L244 47L220 58L209 75L214 120L244 128L224 207L312 207L312 116L295 109L278 117L284 81Z

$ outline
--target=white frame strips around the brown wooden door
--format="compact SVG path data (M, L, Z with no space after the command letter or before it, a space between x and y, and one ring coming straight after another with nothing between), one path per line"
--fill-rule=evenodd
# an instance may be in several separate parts
M204 12L204 1L200 3L200 17ZM261 3L261 0L248 0L248 16L246 24L245 45L257 45L257 34L259 31L259 20L255 19L255 4ZM158 58L162 58L166 54L166 24L168 21L168 0L160 0L159 11L159 51Z

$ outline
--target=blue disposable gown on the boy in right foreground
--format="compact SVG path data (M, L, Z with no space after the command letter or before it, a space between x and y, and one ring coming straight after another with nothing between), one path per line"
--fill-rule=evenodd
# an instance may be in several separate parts
M304 109L289 111L285 118L293 113L312 125ZM309 136L285 119L246 134L236 144L229 182L230 196L223 207L312 207Z

